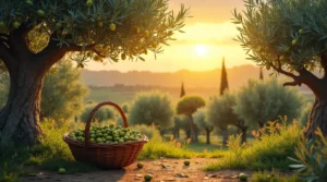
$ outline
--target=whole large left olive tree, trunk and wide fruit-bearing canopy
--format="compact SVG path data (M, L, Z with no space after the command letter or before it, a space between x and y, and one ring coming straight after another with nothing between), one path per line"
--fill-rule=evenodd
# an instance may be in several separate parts
M80 68L89 60L144 60L162 51L187 13L183 5L173 13L168 0L0 1L0 68L10 77L0 131L16 144L35 144L44 77L65 54Z

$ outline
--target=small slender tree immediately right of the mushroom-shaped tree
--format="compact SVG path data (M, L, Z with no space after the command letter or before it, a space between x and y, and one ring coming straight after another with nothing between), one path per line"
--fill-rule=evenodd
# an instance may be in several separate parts
M208 122L206 118L206 109L201 108L195 113L193 113L194 123L199 128L199 130L206 131L207 144L210 144L210 133L214 131L214 125Z

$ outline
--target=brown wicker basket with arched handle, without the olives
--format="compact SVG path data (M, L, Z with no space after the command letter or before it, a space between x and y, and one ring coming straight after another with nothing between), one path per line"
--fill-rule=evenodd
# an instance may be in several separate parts
M118 109L123 119L124 128L128 128L129 123L122 109L114 102L106 101L97 105L89 113L85 125L85 143L71 139L68 137L69 133L64 134L63 141L68 143L77 161L95 163L102 169L130 166L136 160L143 145L148 142L146 136L144 136L142 141L125 142L122 144L96 144L89 142L90 122L94 119L96 111L106 105L113 106Z

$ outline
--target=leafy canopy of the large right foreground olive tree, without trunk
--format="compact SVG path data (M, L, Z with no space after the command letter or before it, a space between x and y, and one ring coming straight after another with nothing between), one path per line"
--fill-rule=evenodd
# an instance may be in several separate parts
M240 25L238 40L261 65L319 68L319 56L326 50L326 1L244 0L243 13L234 11ZM279 57L279 61L278 61Z

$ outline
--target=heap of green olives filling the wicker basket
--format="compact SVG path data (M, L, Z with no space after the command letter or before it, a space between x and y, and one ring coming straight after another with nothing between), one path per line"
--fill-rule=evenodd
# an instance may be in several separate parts
M75 130L69 134L74 141L85 142L84 130ZM94 125L89 130L90 143L97 144L118 144L132 141L141 141L144 135L140 131L110 124L108 126Z

